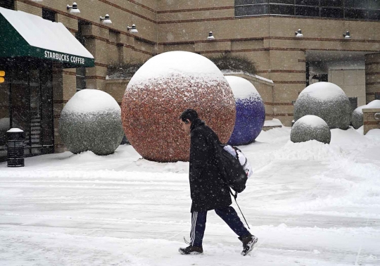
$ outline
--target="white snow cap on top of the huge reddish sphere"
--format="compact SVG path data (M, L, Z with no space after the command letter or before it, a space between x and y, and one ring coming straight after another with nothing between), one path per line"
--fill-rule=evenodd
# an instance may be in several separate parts
M205 80L224 80L222 72L208 58L198 53L170 51L160 53L146 61L129 81L128 87L144 84L148 80L162 82L177 75L191 76L194 80L199 77Z

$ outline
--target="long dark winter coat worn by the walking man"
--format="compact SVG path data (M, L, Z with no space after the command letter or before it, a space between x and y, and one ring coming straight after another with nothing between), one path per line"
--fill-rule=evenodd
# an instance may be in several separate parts
M191 212L227 208L232 201L229 186L218 166L219 138L200 119L194 120L190 129Z

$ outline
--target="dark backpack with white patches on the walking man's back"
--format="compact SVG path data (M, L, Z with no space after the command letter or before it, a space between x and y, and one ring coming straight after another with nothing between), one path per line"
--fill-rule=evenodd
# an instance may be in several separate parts
M220 158L227 184L236 193L241 193L246 189L248 177L252 175L251 165L241 150L231 145L220 144Z

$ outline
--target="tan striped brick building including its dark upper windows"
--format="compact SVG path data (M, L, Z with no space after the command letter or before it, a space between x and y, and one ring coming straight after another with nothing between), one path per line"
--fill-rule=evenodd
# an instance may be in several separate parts
M63 148L59 114L76 89L101 89L121 103L125 87L107 86L112 82L106 80L108 65L146 61L165 51L250 58L256 74L273 81L271 89L260 91L267 119L278 118L284 125L291 124L293 103L312 82L338 84L353 106L380 99L379 0L77 0L80 13L70 13L68 4L0 4L63 23L95 58L92 68L53 69L56 151ZM100 19L106 14L112 24ZM127 29L132 24L138 33ZM302 37L296 37L299 29ZM209 32L214 40L207 39Z

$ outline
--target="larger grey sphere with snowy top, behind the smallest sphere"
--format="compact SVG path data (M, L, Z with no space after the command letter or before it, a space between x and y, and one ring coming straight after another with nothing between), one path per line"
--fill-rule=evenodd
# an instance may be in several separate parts
M317 82L301 91L294 104L294 120L304 115L317 115L330 129L348 129L351 104L344 91L334 83Z

